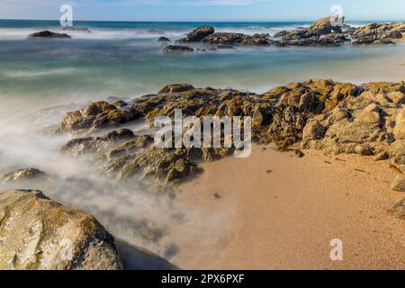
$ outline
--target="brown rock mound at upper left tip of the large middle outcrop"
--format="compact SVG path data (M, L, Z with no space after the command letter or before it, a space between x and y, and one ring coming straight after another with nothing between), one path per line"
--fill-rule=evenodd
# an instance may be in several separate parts
M139 113L130 107L99 101L90 103L83 110L67 112L54 133L67 132L74 135L89 134L103 128L119 126L139 119Z

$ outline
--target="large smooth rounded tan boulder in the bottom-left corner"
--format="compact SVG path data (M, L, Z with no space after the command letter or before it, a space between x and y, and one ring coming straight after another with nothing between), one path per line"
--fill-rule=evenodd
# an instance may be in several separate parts
M92 216L40 191L0 193L0 269L117 270L114 238Z

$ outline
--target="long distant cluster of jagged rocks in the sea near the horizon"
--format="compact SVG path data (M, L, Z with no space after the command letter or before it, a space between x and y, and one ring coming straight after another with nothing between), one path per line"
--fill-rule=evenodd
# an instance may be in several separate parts
M215 32L203 25L187 34L179 43L207 45L261 45L261 46L339 46L345 42L360 44L394 44L393 40L405 37L405 23L370 23L359 28L346 24L335 25L331 17L322 18L309 28L279 31L272 38L268 33L247 35L235 32ZM188 48L188 49L186 49ZM193 48L174 45L166 53L191 52Z

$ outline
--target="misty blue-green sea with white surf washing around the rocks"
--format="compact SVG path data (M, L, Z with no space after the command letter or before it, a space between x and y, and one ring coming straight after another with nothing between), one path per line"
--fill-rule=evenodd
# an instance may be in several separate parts
M21 188L39 188L60 202L90 211L114 235L175 260L182 247L176 247L171 229L193 239L195 249L202 244L195 240L201 233L213 235L201 239L204 245L214 245L221 235L218 223L224 222L227 211L202 215L198 207L176 207L173 195L154 196L139 191L136 184L112 183L94 173L85 160L60 155L68 136L49 137L39 131L88 101L109 96L130 99L156 93L169 83L261 92L310 78L355 83L405 79L403 42L359 48L262 47L163 54L164 46L157 43L159 36L176 40L201 24L76 23L93 32L67 31L72 40L26 40L35 31L59 31L58 23L0 21L0 175L27 166L56 175L58 183L51 189L41 184ZM250 34L274 34L309 25L211 24L217 31ZM52 105L58 107L39 111ZM5 187L0 183L0 189ZM145 239L137 230L156 234L156 238Z

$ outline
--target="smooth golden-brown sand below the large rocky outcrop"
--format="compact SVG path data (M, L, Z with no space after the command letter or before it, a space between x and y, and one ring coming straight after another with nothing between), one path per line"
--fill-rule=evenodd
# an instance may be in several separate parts
M203 164L176 203L204 226L171 231L172 262L193 269L403 269L405 220L387 212L405 197L389 186L397 173L373 157L302 158L254 146L251 157ZM271 171L270 171L271 170ZM330 241L343 241L331 261Z

